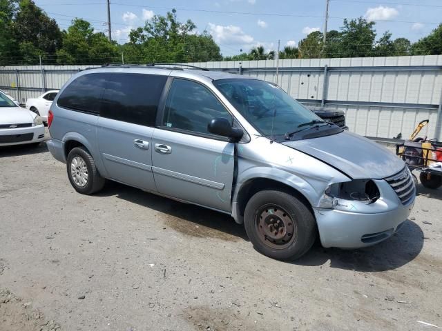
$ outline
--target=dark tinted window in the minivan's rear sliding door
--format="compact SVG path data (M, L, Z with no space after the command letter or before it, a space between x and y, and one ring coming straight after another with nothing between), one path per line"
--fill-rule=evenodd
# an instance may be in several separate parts
M167 76L113 74L104 91L101 117L155 126L158 102Z

